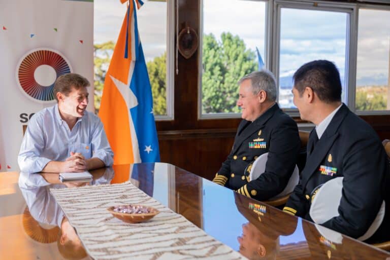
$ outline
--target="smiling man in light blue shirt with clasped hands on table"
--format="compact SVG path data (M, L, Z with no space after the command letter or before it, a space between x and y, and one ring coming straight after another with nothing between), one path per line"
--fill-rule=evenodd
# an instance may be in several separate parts
M31 117L18 164L25 172L82 172L111 166L113 152L103 124L88 104L89 82L76 73L54 85L57 104Z

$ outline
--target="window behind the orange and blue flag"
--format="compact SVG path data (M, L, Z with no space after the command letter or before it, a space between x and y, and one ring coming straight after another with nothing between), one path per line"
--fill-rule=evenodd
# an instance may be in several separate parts
M144 1L138 10L138 30L148 68L156 120L173 119L174 1ZM126 12L111 0L94 3L94 104L100 107L106 71ZM153 21L153 22L151 22ZM167 59L167 57L169 57Z

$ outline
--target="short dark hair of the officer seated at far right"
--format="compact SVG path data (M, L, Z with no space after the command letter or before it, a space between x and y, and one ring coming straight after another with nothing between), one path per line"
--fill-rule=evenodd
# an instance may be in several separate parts
M326 103L341 101L341 80L336 65L328 60L314 60L302 65L293 76L294 86L302 95L310 87Z

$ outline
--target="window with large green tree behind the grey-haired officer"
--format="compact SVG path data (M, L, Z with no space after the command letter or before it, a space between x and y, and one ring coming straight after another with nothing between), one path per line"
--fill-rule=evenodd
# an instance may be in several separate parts
M239 117L240 78L265 61L266 3L203 0L200 117Z

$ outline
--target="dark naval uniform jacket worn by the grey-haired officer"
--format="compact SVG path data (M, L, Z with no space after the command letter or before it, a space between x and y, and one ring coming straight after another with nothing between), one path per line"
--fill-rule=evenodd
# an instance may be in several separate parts
M247 197L268 200L286 187L299 148L297 124L276 103L255 121L242 120L232 152L213 181ZM249 182L251 164L264 153L268 153L265 172Z

